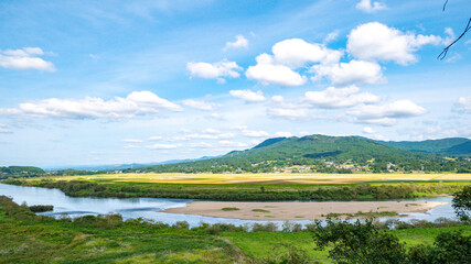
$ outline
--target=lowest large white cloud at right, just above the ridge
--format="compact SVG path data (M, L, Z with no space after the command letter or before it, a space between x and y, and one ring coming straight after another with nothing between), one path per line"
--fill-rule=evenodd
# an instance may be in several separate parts
M362 106L347 113L360 123L393 125L396 119L422 116L427 110L409 100L398 100L383 106Z

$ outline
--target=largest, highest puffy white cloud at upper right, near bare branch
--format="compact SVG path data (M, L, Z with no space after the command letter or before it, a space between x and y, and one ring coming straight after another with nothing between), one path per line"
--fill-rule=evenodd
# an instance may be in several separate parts
M414 52L426 44L439 45L441 37L404 33L385 24L371 22L352 30L346 48L354 57L363 61L393 61L408 65L417 62Z

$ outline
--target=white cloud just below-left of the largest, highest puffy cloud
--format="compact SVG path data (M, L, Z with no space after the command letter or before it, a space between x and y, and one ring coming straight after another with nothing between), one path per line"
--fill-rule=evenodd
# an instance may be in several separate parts
M352 59L350 63L336 65L314 65L313 70L319 79L327 76L333 85L364 85L382 84L386 81L382 68L377 63Z

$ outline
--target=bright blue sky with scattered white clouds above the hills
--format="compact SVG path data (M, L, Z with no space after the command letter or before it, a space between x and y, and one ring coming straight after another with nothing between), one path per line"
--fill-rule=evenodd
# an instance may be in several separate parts
M0 165L471 136L471 3L1 1Z

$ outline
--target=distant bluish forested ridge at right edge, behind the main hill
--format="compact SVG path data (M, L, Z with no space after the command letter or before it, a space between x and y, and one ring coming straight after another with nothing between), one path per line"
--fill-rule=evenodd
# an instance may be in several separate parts
M471 155L471 140L464 138L449 138L426 141L375 141L383 145L399 150L448 155Z

